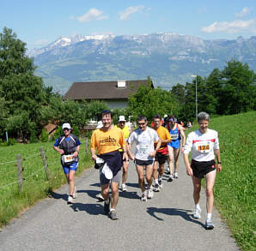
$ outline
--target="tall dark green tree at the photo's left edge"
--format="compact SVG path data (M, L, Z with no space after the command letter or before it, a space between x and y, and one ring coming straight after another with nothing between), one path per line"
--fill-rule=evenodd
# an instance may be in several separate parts
M26 56L26 44L4 27L0 33L0 98L8 111L5 128L10 136L29 137L32 130L40 131L40 110L46 105L46 88L34 75L33 59ZM49 90L48 90L49 91Z

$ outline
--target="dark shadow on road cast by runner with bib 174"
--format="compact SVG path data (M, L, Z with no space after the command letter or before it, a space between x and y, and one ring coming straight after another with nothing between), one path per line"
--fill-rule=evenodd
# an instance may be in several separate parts
M154 218L158 220L163 220L162 218L156 216L156 213L164 213L167 215L174 215L174 216L180 216L181 218L184 218L187 221L191 221L195 224L199 224L204 227L204 224L202 224L200 221L195 220L192 218L192 213L189 214L188 212L192 212L191 210L185 210L185 209L178 209L178 208L157 208L157 207L148 207L147 212L153 216Z

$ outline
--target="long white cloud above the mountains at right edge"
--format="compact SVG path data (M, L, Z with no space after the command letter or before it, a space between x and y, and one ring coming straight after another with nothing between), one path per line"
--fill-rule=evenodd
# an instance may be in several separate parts
M203 27L201 29L204 33L241 33L245 31L251 31L255 33L256 20L251 19L247 21L236 20L236 21L215 21L209 27Z

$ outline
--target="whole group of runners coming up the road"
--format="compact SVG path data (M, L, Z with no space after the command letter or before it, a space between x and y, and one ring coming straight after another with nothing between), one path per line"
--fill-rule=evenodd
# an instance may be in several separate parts
M162 176L165 163L168 163L168 182L178 178L179 154L183 153L186 173L192 176L193 199L195 203L193 217L200 218L199 193L201 180L206 177L206 229L213 229L211 212L213 208L213 186L216 170L222 170L217 132L208 128L210 117L205 112L198 114L198 130L186 135L184 128L174 116L168 117L162 124L162 117L153 117L153 127L148 127L147 117L137 117L137 128L132 131L124 116L119 117L118 125L113 125L113 113L101 112L101 126L91 136L91 157L95 168L100 170L101 196L104 200L104 212L113 220L118 219L116 207L119 201L119 183L123 192L127 191L126 180L129 159L136 164L138 184L142 194L140 200L152 199L154 192L163 188ZM58 137L54 149L61 154L61 161L67 181L70 185L68 203L76 198L74 175L78 165L80 141L70 134L70 124L64 123L64 135ZM181 143L181 144L180 144ZM135 144L135 152L131 145ZM192 162L188 153L192 150ZM74 156L69 162L70 156ZM217 167L215 162L217 159ZM146 182L145 182L146 181ZM111 196L110 196L111 189Z

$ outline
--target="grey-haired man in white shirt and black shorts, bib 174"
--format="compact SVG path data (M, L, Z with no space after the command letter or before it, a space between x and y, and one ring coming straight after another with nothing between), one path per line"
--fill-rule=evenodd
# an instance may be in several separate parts
M186 173L192 176L193 199L195 209L194 218L201 218L201 208L199 206L201 180L206 178L206 222L205 228L212 230L214 224L211 222L211 212L213 208L213 186L216 178L216 170L222 170L220 157L218 134L215 130L208 128L210 116L206 112L198 114L198 130L188 134L184 150L184 161L186 164ZM192 162L190 164L188 153L192 149ZM215 163L215 155L217 166Z

